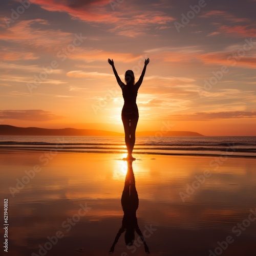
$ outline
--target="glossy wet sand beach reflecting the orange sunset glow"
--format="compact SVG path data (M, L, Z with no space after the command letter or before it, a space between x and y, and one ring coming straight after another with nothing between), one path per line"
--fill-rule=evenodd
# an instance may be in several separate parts
M124 215L124 156L1 151L8 255L107 255ZM137 223L151 255L256 251L256 159L134 156ZM136 234L126 247L122 233L113 255L145 255L143 243Z

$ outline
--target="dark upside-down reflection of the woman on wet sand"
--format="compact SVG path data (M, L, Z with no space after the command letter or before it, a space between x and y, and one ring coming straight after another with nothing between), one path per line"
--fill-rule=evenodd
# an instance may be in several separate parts
M135 178L134 178L132 163L130 165L131 166L128 167L127 169L123 193L121 197L121 204L123 208L122 226L116 235L115 241L111 246L109 253L114 252L115 245L124 231L125 231L125 234L124 234L125 244L127 246L132 246L134 243L135 231L136 231L140 239L143 241L145 252L149 254L150 250L148 249L145 239L143 237L143 234L140 231L137 217L136 217L136 210L138 209L138 206L139 206L139 198L138 198L138 193L135 187Z

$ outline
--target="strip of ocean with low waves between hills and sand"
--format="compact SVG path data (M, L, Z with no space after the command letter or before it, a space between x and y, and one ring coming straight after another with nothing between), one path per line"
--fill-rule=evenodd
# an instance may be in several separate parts
M123 136L0 136L0 149L125 154ZM256 158L256 137L136 137L133 154Z

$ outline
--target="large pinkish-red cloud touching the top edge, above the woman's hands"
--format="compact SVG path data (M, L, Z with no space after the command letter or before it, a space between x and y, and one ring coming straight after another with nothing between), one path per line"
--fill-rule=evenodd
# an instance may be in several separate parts
M68 0L38 0L34 4L48 11L66 12L73 19L80 19L83 22L110 25L112 28L108 29L109 32L129 37L143 35L152 26L158 29L169 27L167 25L174 20L162 11L152 12L152 6L148 4L149 10L145 10L143 6L142 13L138 2L115 2L120 8L115 7L114 10L110 2L109 0L77 0L71 3ZM155 7L154 4L153 7Z

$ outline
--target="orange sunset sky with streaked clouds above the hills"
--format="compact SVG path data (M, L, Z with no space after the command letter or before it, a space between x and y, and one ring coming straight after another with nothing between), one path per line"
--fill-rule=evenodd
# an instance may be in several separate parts
M127 69L137 131L256 136L256 1L0 3L0 124L122 132Z

